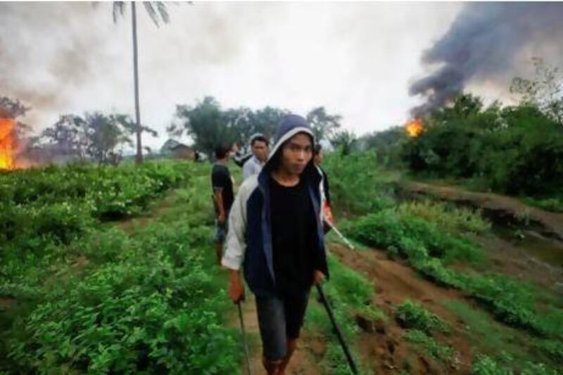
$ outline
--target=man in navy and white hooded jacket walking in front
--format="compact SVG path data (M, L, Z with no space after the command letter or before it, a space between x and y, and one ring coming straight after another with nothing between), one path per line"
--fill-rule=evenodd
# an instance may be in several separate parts
M328 277L322 226L322 175L312 163L314 137L306 120L286 115L260 174L242 184L229 215L229 296L244 298L239 275L255 294L268 374L283 374L312 285Z

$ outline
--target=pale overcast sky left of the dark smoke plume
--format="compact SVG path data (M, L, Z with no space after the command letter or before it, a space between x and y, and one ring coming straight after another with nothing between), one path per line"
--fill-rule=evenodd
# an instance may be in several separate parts
M139 4L140 5L140 4ZM403 124L421 101L410 82L420 57L450 27L461 3L168 4L156 27L139 22L141 119L160 132L177 104L215 96L224 108L314 106L343 116L361 135ZM33 109L35 129L59 114L134 114L129 10L111 4L0 4L0 95Z

